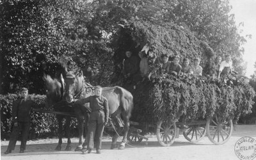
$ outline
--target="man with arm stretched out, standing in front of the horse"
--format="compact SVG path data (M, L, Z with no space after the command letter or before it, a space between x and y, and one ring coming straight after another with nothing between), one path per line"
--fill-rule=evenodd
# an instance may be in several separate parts
M95 95L77 100L76 103L90 103L92 112L90 113L89 125L88 125L88 145L87 149L83 150L83 154L90 154L94 148L96 153L100 154L102 134L104 126L108 124L109 108L108 100L101 95L101 86L95 87Z

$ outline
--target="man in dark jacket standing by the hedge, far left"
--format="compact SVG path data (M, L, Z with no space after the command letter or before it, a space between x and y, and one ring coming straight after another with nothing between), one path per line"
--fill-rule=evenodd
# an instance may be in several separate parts
M28 99L28 89L22 88L21 98L13 102L12 108L12 119L14 122L11 138L9 141L8 148L4 154L9 154L15 148L16 141L21 132L21 144L20 153L24 153L26 150L26 143L28 139L28 132L31 120L31 108L35 106L35 103Z

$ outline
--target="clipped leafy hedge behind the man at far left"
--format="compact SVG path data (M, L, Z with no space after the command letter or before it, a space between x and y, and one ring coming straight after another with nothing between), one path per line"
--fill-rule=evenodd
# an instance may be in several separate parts
M0 95L1 106L1 140L10 139L13 127L12 104L19 98L16 94ZM45 95L28 95L33 100L37 109L45 109ZM72 118L70 134L78 135L76 118ZM58 121L52 113L31 112L31 128L29 129L29 140L35 138L51 138L58 132Z

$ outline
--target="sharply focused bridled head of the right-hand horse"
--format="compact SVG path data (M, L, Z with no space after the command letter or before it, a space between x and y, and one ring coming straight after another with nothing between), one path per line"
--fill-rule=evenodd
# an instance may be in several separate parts
M67 72L65 77L65 99L68 103L73 102L74 99L79 99L84 91L84 77L83 72L75 73Z

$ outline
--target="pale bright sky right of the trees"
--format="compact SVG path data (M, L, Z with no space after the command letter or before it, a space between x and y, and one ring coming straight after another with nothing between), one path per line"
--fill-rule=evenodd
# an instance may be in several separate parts
M252 35L244 47L243 59L247 62L246 75L250 77L256 70L254 67L256 61L256 0L229 0L232 10L235 14L236 24L244 22L243 33L241 35Z

